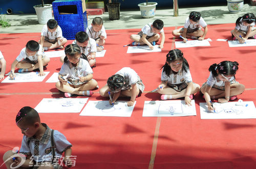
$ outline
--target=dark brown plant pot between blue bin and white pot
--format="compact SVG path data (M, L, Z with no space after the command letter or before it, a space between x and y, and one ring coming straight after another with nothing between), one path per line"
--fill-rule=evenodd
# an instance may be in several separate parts
M109 0L109 4L106 4L109 12L110 20L118 20L120 19L120 3L117 2L118 0Z

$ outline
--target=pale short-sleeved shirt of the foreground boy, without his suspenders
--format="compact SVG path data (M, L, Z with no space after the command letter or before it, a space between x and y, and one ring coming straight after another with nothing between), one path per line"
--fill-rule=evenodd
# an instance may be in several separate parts
M45 125L42 123L42 125ZM37 162L41 161L51 161L52 160L52 151L49 149L52 147L51 145L51 129L47 126L47 130L44 134L44 138L41 138L39 141L39 149L38 149L38 158L34 157L34 160ZM30 139L29 143L28 140ZM55 156L61 156L62 152L66 150L67 147L71 147L72 145L69 143L65 135L60 133L57 130L54 130L53 132L53 140L55 144ZM26 154L34 154L34 147L35 147L35 139L32 137L28 137L26 135L23 136L22 139L22 146L20 147L20 152L26 153ZM48 152L48 154L46 153Z

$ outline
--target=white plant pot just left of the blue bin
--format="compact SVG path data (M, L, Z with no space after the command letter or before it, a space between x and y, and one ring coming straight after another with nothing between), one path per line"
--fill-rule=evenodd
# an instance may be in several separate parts
M49 19L52 19L52 5L46 4L34 6L39 24L46 24Z

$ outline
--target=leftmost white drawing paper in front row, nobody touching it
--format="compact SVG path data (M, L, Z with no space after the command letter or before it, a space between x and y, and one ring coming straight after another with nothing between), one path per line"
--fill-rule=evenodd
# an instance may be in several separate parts
M44 98L35 107L37 112L80 112L88 98Z

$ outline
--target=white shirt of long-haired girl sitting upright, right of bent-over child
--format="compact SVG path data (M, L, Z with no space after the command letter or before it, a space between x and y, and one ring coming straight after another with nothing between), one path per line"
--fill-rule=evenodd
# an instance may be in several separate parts
M169 76L167 76L167 74L162 70L161 81L167 81L170 85L178 85L185 81L191 82L192 77L189 70L185 72L185 70L182 71L182 69L180 69L177 74L174 74L171 71Z

